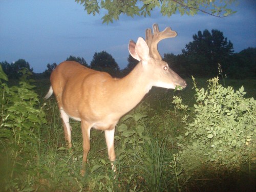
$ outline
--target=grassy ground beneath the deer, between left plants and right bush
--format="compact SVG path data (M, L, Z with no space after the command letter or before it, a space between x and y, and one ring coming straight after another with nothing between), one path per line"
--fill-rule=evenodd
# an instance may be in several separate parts
M186 81L188 86L182 91L153 88L129 113L130 116L120 120L115 133L116 173L112 172L108 160L104 133L92 129L87 172L82 177L80 122L71 120L73 148L67 150L55 98L42 99L48 92L49 79L37 79L35 91L48 123L40 127L39 143L31 159L23 158L28 154L19 154L13 170L11 165L15 159L8 158L10 155L1 157L0 171L3 174L0 184L5 187L0 190L255 191L255 162L245 163L236 170L199 163L200 157L182 164L185 161L180 160L181 146L178 143L185 140L185 124L181 120L184 113L176 111L172 102L173 96L178 95L193 108L196 103L193 81ZM199 88L206 89L206 79L196 81ZM255 79L225 80L225 86L232 86L234 90L242 85L247 92L245 97L256 98ZM1 142L5 142L4 139ZM255 154L248 154L247 158L255 161ZM200 165L194 166L193 161Z

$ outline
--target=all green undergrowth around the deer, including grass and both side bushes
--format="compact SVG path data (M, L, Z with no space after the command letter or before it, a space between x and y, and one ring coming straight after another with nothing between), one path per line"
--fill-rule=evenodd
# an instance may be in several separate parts
M2 191L254 191L255 80L153 88L116 126L116 172L104 133L92 129L82 177L80 122L71 120L67 149L55 98L41 99L49 80L24 71L9 86L1 69L0 78Z

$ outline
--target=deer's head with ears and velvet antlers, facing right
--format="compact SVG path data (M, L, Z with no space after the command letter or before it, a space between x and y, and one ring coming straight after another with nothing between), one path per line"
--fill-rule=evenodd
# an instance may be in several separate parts
M140 61L138 65L143 66L143 71L147 74L152 86L167 89L175 89L176 86L178 86L178 89L179 87L186 87L186 81L169 68L157 50L160 40L175 36L177 36L177 33L172 31L170 27L160 32L158 25L154 24L153 34L151 29L146 29L146 40L139 37L137 43L133 40L129 43L130 54Z

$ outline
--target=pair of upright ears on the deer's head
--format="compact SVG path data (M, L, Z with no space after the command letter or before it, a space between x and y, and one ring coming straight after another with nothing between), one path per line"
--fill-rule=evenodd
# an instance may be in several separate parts
M147 61L150 55L150 49L148 49L145 40L141 37L138 38L137 44L133 40L130 40L129 52L138 61Z

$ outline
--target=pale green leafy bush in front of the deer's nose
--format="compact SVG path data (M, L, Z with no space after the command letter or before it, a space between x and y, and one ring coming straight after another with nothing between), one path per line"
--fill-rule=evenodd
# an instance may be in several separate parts
M197 104L182 120L186 124L185 142L180 144L180 163L186 172L203 165L215 172L237 172L247 166L253 169L255 154L256 101L245 98L243 86L239 91L223 87L219 79L208 81L207 90L199 89L194 79ZM187 111L180 98L174 103ZM179 138L181 139L181 138Z

